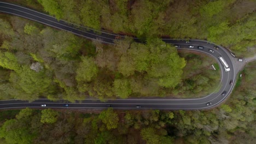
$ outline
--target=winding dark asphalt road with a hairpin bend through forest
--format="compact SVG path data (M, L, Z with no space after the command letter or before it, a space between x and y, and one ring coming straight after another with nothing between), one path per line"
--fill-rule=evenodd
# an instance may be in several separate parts
M113 34L105 31L95 31L90 28L80 27L68 23L65 21L57 21L54 17L49 15L39 13L37 11L20 7L19 5L9 4L0 2L0 11L2 13L7 13L11 15L16 15L24 17L25 19L30 19L44 25L55 27L57 29L62 29L64 31L71 32L80 37L84 37L91 40L98 40L106 44L114 44L114 40L119 37L123 39L125 35ZM134 38L136 42L142 43L139 39ZM234 71L234 64L232 63L230 53L221 46L219 50L214 49L214 44L204 40L190 40L190 43L186 43L185 40L173 40L173 39L162 39L166 43L179 45L180 50L193 50L206 53L207 55L214 57L219 63L222 71L222 79L220 82L220 88L216 89L215 92L206 95L203 98L198 99L115 99L107 100L107 102L102 102L100 100L86 99L82 102L76 101L75 103L70 103L65 100L51 101L48 99L38 99L32 102L23 100L2 100L0 101L0 109L12 109L12 108L24 108L24 107L40 107L41 104L46 104L46 107L51 108L63 108L63 104L69 104L70 108L76 109L104 109L106 104L111 104L114 109L138 109L136 106L141 106L139 109L160 109L160 110L202 110L211 109L214 106L222 103L230 95L234 85L230 85L230 80L235 83L237 72ZM189 48L188 45L194 45L194 48ZM205 49L197 49L197 46L203 46ZM214 50L214 53L209 52L209 49ZM218 57L224 57L225 61L230 67L230 71L225 71L223 65L220 63ZM213 89L214 90L214 89ZM226 91L226 95L222 93ZM211 102L211 105L207 106L206 103Z

